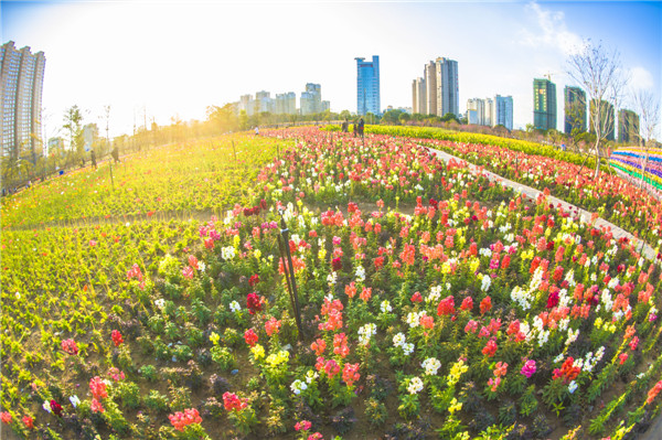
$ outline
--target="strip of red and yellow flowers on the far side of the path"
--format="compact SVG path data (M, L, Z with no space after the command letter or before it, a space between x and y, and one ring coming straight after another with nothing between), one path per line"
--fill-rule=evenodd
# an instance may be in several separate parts
M369 127L369 131L372 130ZM505 179L540 191L548 190L558 198L599 213L600 217L636 236L643 232L640 238L653 248L662 245L662 204L659 198L640 189L637 182L621 179L616 173L604 171L595 181L595 162L590 158L584 163L578 154L543 146L535 149L532 142L516 140L504 140L501 146L485 144L482 142L492 137L484 135L451 136L437 133L437 129L401 127L375 127L374 131L414 138L417 143L447 151ZM656 157L651 154L648 165L651 173L654 173L655 160Z

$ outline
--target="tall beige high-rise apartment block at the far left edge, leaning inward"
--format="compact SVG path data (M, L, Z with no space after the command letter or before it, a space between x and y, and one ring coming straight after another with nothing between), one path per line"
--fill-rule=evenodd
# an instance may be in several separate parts
M43 52L30 53L28 46L17 50L10 41L2 45L0 61L0 154L36 161L45 143L41 140L41 106L46 58Z

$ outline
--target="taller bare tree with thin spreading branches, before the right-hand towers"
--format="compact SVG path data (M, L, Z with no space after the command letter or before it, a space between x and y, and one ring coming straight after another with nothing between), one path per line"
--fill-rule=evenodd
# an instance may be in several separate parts
M615 132L616 109L622 98L629 77L626 75L618 51L609 51L601 43L584 42L578 52L567 61L568 75L584 88L589 103L589 128L596 135L594 154L596 171L600 172L600 148Z

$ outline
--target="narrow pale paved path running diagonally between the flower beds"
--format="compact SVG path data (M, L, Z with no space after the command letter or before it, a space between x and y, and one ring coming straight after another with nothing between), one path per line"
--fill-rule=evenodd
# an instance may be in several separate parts
M449 154L445 151L439 151L439 150L435 150L431 148L428 148L428 149L430 150L430 152L435 153L438 158L442 159L446 162L450 161L451 159L455 159L456 161L460 161L460 162L466 162L468 164L469 170L472 173L484 174L489 180L500 183L504 186L512 187L515 192L525 194L527 197L531 197L533 200L537 198L537 196L540 194L542 194L542 191L535 190L531 186L526 186L526 185L523 185L517 182L513 182L508 179L503 179L499 174L494 174L490 171L483 170L481 167L477 167L473 163L467 162L466 160L460 159L456 155ZM549 203L553 203L555 206L563 206L564 211L576 213L585 221L587 221L587 222L590 221L591 213L589 213L588 211L581 210L580 207L572 205L560 198L556 198L551 195L547 196L547 200L549 201ZM628 233L627 230L624 230L602 218L598 218L596 221L596 225L597 226L609 226L611 228L611 232L612 232L615 238L618 239L621 237L628 237L630 240L632 240L632 243L637 244L637 248L641 249L640 244L642 242L640 242L638 238L636 238L632 234ZM654 260L654 258L656 257L656 254L653 250L653 248L651 248L648 244L644 244L643 245L643 256L645 258L648 258L649 260ZM652 422L651 428L649 428L644 433L642 433L638 438L640 438L641 440L662 440L662 416L659 416L658 419Z

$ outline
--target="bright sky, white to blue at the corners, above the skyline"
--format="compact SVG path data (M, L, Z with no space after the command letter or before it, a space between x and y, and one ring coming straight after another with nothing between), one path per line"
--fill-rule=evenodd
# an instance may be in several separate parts
M2 43L45 54L47 137L73 105L102 132L109 105L115 136L259 90L295 92L298 107L306 83L333 111L356 111L354 58L373 55L383 108L412 107L412 81L445 56L460 111L511 95L515 128L533 122L533 78L549 74L563 130L567 58L587 39L620 54L630 94L662 99L661 1L1 1L0 24Z

